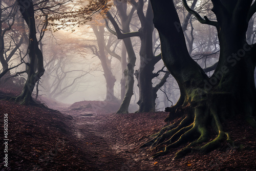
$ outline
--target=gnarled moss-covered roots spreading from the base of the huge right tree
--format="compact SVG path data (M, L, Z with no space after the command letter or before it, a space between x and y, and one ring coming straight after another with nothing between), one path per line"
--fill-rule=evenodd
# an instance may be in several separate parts
M159 151L153 155L153 158L166 155L171 148L179 147L181 144L189 142L175 154L174 159L181 158L190 152L208 153L220 146L222 141L233 143L228 133L223 131L218 108L211 104L210 106L197 106L194 109L194 116L187 115L180 123L173 123L164 127L151 141L144 143L141 147L151 146L153 150ZM194 119L194 122L192 121ZM207 142L209 130L207 125L212 123L217 131L217 137ZM177 125L175 127L175 125ZM201 145L202 143L205 143ZM164 148L164 149L163 149Z

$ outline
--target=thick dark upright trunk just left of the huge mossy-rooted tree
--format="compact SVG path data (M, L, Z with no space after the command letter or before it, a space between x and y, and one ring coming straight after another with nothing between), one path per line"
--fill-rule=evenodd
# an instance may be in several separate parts
M142 14L143 5L138 5L137 13L140 17L142 27L140 29L140 68L135 72L139 87L138 112L155 112L156 96L153 91L152 79L154 78L154 66L156 59L153 54L153 11L151 4L148 4L146 16Z

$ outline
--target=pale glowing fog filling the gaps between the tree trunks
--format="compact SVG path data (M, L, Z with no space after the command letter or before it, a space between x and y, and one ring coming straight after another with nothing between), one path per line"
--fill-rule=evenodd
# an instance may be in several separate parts
M198 1L195 8L199 8L201 3L201 1ZM85 2L81 6L87 4ZM124 32L121 28L127 27L130 32L138 32L142 25L141 18L133 11L133 6L131 4L125 4L125 2L116 1L114 4L109 9L109 15L114 16L114 20L120 30ZM147 5L146 2L144 4L144 15L147 13ZM184 20L185 14L187 13L184 11L184 8L179 9L180 5L179 3L177 4L178 14L180 19ZM72 4L67 4L63 8L63 11L69 9L71 6ZM129 26L125 26L122 23L123 18L120 17L121 14L118 14L118 10L120 10L118 9L119 6L125 7L123 10L126 9L124 13L127 16L131 13L131 24ZM77 4L74 5L74 9L79 9L79 7ZM198 10L201 9L199 8ZM202 13L211 16L213 20L216 19L210 10L202 10ZM125 49L127 47L124 46L122 39L117 39L113 21L110 21L110 18L105 16L106 14L102 16L101 13L95 13L92 15L91 20L83 24L81 24L82 19L79 17L76 18L75 16L53 19L49 21L50 24L47 29L43 29L44 23L46 22L44 20L45 15L39 13L35 15L38 30L37 37L40 39L39 47L44 56L45 67L45 73L42 75L38 84L38 92L37 89L34 89L34 94L38 93L39 99L47 97L68 104L83 100L103 101L106 100L106 96L108 96L106 92L110 89L106 80L113 78L116 80L114 81L114 87L111 88L111 91L113 91L112 95L122 100L123 95L121 92L123 91L124 85L121 85L121 79L123 78L123 71L126 67L125 63L130 60L129 55L131 56L131 52ZM179 28L180 26L177 27ZM252 33L255 32L253 28L254 25L252 25ZM26 29L25 27L24 30ZM39 37L42 33L44 33L44 36ZM21 39L21 36L18 34L17 39ZM202 25L192 17L187 23L184 35L189 54L202 68L210 67L218 61L220 46L215 27ZM8 37L7 40L11 38ZM134 66L136 75L136 72L142 69L141 65L151 65L148 64L152 60L152 58L148 57L149 54L153 53L153 55L157 56L161 53L160 39L157 30L154 29L151 39L153 42L153 52L147 52L148 54L142 51L143 44L141 44L142 40L139 36L132 36L129 39L132 42L131 49L136 56ZM254 37L248 37L247 41L253 42ZM16 44L16 42L13 43ZM10 66L18 65L20 56L24 56L22 60L28 63L27 49L28 45L24 42L19 47L19 53L17 52L12 60L10 60ZM144 60L144 63L140 60ZM17 72L24 70L26 70L26 65L20 65L15 70L11 70L11 74L15 75ZM166 72L167 70L164 68L162 60L154 64L153 75L155 74L155 76L151 81L153 87L161 82ZM214 73L214 70L207 72L207 75L210 77L212 73ZM18 74L17 78L22 80L20 81L20 86L23 86L27 74ZM138 107L137 102L140 98L140 90L137 84L138 80L135 78L131 104ZM155 100L156 110L163 111L167 106L174 105L179 99L179 94L180 91L176 80L169 75L166 82L157 91L157 98Z

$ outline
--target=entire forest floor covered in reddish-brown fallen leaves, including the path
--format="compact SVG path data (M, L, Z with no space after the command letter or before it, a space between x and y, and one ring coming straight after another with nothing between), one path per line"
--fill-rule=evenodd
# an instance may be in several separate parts
M12 93L1 88L1 94ZM256 133L239 118L224 127L242 149L223 143L208 154L190 153L173 160L183 145L152 159L154 151L139 147L166 124L168 113L115 114L118 106L102 101L49 106L60 112L0 101L0 170L256 169ZM4 152L4 114L8 114L8 153Z

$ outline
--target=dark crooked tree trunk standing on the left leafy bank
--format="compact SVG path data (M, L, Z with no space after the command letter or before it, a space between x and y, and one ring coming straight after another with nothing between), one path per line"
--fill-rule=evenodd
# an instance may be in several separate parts
M34 18L34 8L33 3L25 0L18 0L18 5L20 7L20 12L25 19L29 27L29 63L28 67L28 78L23 88L22 94L20 94L15 101L22 104L29 104L33 102L32 92L35 87L35 83L44 74L44 60L42 53L38 48L38 41L36 38L36 28L35 28L35 18ZM26 5L26 7L24 7Z

